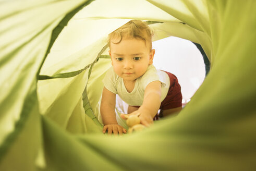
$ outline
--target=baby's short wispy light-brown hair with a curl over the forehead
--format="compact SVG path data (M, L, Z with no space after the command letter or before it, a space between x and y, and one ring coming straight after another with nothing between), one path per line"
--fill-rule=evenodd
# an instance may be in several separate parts
M149 43L150 50L152 49L152 36L153 31L150 27L141 20L130 20L125 25L119 27L112 33L108 34L108 45L110 48L110 43L118 44L125 38L135 38L142 39L145 41L146 45ZM111 41L112 39L119 39L117 42Z

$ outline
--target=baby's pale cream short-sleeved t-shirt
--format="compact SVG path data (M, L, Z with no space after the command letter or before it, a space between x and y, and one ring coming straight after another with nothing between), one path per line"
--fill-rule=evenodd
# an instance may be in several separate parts
M149 65L145 74L137 78L135 87L130 93L126 90L123 78L119 77L114 72L113 67L108 69L105 78L103 79L105 88L115 94L118 94L120 98L130 106L142 105L145 88L152 81L160 81L162 83L162 102L168 93L170 80L165 71L155 69L153 65Z

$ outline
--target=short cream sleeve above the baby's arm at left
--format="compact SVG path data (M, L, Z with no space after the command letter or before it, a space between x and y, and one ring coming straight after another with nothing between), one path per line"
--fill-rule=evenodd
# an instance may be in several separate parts
M116 90L116 74L114 72L114 69L113 67L109 68L106 72L106 75L103 79L103 84L104 84L104 87L117 94L117 90Z

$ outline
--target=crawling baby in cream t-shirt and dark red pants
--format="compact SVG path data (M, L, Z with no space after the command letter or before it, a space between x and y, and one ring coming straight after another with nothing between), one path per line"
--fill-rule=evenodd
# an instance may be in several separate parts
M116 94L125 101L128 114L140 113L141 124L150 126L161 109L161 115L182 109L178 79L173 74L157 70L153 64L152 30L140 20L130 20L108 35L112 67L103 79L101 101L103 133L126 133L118 125L115 114ZM121 114L122 118L126 118Z

